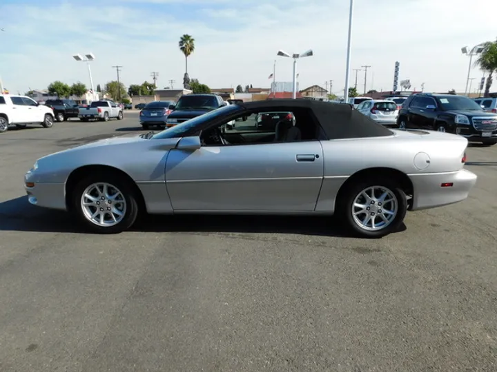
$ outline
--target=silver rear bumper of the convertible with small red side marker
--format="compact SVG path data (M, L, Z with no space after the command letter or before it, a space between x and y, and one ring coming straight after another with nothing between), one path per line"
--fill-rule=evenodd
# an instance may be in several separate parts
M457 172L409 174L414 195L411 210L429 209L465 200L478 178L473 172L461 169ZM452 183L442 187L442 183Z

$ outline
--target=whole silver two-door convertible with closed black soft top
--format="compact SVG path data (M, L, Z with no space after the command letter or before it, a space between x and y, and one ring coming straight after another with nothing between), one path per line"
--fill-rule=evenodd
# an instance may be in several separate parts
M293 119L257 127L266 112ZM464 169L466 147L455 134L389 130L346 104L256 101L45 156L25 188L30 203L70 211L98 233L129 229L144 211L338 214L357 235L380 237L407 210L467 198L476 175Z

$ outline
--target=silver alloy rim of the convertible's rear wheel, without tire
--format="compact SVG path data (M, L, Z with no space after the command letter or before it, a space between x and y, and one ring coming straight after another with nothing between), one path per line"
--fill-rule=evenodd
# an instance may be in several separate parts
M352 203L354 222L367 231L379 231L389 226L398 213L396 195L384 186L362 190Z

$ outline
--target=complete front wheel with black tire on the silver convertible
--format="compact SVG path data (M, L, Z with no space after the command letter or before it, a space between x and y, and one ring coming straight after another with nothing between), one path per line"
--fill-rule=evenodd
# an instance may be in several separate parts
M72 192L72 211L90 232L117 234L126 231L138 216L137 196L122 176L93 174Z

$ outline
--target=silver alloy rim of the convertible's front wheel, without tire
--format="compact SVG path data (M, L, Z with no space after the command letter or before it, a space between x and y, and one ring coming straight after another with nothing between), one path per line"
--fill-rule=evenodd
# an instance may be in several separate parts
M126 199L110 183L93 183L81 195L81 210L91 223L101 227L112 227L126 215Z

